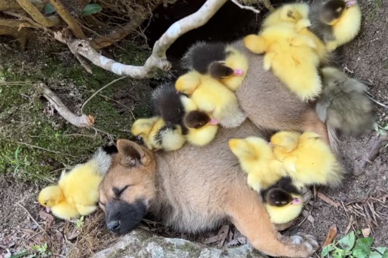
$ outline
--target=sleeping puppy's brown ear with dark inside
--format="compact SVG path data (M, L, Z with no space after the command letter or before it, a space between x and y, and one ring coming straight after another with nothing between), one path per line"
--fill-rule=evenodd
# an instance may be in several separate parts
M150 161L147 153L139 144L125 140L117 140L117 150L120 155L120 165L124 167L135 167L147 165Z

